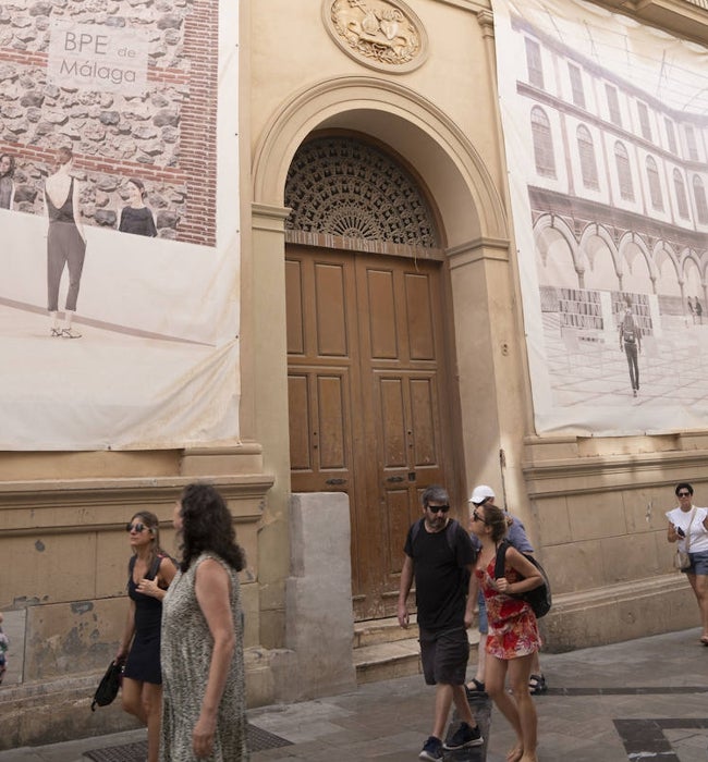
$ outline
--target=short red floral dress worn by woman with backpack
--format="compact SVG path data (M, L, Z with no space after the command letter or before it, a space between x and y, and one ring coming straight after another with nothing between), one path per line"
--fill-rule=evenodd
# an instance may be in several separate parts
M487 653L497 659L516 659L538 651L541 646L538 634L538 623L528 603L521 598L512 598L493 590L489 586L489 578L495 578L495 557L492 557L487 573L475 569L475 574L481 585L487 604L487 618L489 619L489 634L487 635ZM504 577L509 582L518 582L523 577L506 565Z

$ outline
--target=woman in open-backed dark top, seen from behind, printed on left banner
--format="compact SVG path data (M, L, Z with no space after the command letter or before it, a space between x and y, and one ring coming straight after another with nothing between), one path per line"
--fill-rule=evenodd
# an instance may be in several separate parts
M45 183L45 210L49 218L47 236L47 309L51 319L49 335L81 339L72 328L81 274L86 255L86 236L80 210L80 182L72 174L74 155L69 147L58 151L58 164ZM69 291L64 306L64 322L59 323L59 284L64 268L69 270Z

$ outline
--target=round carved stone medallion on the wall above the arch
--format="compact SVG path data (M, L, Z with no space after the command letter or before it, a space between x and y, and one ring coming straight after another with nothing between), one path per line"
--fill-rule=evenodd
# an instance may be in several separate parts
M371 69L403 73L425 61L423 24L400 0L325 0L322 16L332 39Z

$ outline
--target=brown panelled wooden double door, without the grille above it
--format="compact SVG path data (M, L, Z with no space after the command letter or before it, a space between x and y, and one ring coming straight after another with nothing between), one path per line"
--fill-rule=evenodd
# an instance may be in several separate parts
M346 492L358 619L395 613L429 484L452 484L439 262L289 246L293 492Z

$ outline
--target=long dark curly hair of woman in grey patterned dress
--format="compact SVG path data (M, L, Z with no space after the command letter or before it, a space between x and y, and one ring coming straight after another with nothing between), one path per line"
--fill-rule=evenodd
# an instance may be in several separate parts
M236 542L231 512L219 492L211 484L194 482L184 488L180 502L182 572L186 572L205 551L215 553L241 572L246 565L246 557Z

